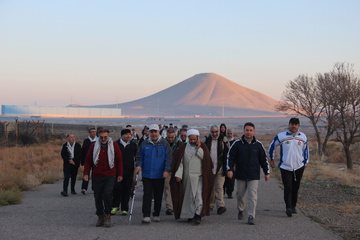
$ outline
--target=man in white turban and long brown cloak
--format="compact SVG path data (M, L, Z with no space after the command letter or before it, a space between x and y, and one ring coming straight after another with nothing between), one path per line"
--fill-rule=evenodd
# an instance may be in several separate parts
M202 216L210 215L213 164L208 148L199 142L199 131L190 129L187 136L189 142L180 146L174 156L170 189L175 219L194 219L195 224L200 224Z

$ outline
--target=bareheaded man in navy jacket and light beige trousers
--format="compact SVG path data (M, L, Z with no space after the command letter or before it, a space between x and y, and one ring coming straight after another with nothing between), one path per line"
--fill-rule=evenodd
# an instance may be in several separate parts
M244 135L235 141L230 148L227 160L227 176L235 177L237 186L238 219L243 218L245 210L245 195L247 193L248 224L254 225L255 209L257 203L257 189L260 180L260 167L265 174L265 181L270 179L269 164L265 149L255 138L255 125L245 123ZM236 165L236 169L234 169ZM235 172L235 174L234 174Z

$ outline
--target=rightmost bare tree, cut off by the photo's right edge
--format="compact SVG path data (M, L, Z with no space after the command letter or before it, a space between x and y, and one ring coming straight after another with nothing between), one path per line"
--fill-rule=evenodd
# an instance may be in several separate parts
M336 111L337 139L342 143L348 169L353 169L350 146L360 130L360 79L353 65L336 63L327 74L329 100Z

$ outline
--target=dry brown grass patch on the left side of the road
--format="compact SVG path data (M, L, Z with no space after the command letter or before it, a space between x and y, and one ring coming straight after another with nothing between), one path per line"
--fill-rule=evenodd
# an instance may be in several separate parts
M0 149L0 206L20 202L21 191L60 179L61 142Z

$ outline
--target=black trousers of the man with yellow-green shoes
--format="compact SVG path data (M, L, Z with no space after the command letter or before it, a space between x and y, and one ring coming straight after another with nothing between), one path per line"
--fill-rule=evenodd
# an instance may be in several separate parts
M132 176L124 176L121 182L117 182L117 179L115 179L112 201L113 208L118 208L121 203L121 211L129 211L132 180Z

